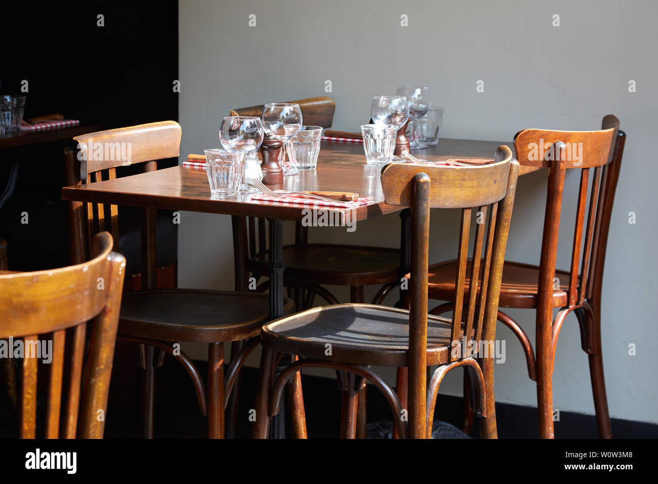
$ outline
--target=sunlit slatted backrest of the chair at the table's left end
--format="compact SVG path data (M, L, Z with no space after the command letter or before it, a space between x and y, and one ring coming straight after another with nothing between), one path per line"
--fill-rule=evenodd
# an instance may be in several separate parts
M178 156L180 136L180 125L175 121L151 122L76 136L73 139L78 141L78 149L64 149L66 183L70 186L113 180L116 168L127 165L143 164L144 172L155 171L158 160ZM111 232L114 250L118 250L117 205L69 202L69 207L72 263L88 260L91 237L103 230ZM144 209L143 217L143 288L154 288L157 274L155 209Z

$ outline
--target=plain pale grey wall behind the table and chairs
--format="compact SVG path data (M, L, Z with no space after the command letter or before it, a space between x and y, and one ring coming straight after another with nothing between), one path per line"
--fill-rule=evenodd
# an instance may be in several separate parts
M257 26L248 26L249 14ZM408 27L400 25L402 14ZM553 14L561 26L552 26ZM334 128L340 130L357 130L369 117L372 95L404 84L430 86L434 103L445 107L447 138L509 141L522 128L597 129L614 113L628 139L603 285L605 381L611 416L658 422L650 347L658 341L658 232L651 203L658 177L657 17L658 3L640 0L181 0L181 153L218 147L219 124L231 107L325 95L325 80L332 81L328 95L336 100ZM635 93L628 92L631 79ZM476 93L477 80L484 80L484 93ZM520 179L509 259L539 262L545 182L545 173ZM577 186L576 175L567 175L558 252L563 268L569 266ZM630 211L636 225L628 223ZM228 216L184 213L181 286L232 288L230 227ZM442 235L456 227L456 213L433 215L430 261L452 256L456 240ZM352 234L314 229L311 240L397 247L398 234L399 219L390 215ZM534 340L534 311L510 313ZM496 365L497 400L536 405L519 344L501 325L498 335L507 340L507 362ZM628 354L630 343L637 345L636 356ZM461 394L461 374L446 379L442 392ZM553 394L555 408L594 413L573 316L560 335Z

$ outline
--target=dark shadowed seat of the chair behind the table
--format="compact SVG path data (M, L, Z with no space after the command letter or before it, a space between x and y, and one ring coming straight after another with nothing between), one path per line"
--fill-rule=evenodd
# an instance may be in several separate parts
M340 244L297 244L284 246L283 261L286 281L365 286L397 279L400 251ZM249 270L268 275L269 263L270 252L259 252L249 259Z

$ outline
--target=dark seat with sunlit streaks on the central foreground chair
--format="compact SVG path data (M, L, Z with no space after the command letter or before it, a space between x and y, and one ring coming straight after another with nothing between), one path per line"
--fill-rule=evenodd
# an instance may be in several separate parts
M428 365L449 360L450 339L450 321L429 316ZM409 364L409 311L374 304L313 308L264 325L261 340L266 348L307 358L403 367Z

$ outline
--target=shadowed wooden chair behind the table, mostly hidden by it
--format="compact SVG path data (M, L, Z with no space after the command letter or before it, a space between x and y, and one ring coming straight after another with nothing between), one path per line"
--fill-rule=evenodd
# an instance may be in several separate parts
M336 103L330 97L312 97L290 101L299 104L303 122L307 126L330 128ZM263 105L232 109L232 116L257 116L263 113ZM245 271L257 281L268 277L270 252L266 241L265 220L241 217L235 221L235 243L246 246L243 261ZM258 227L258 229L256 228ZM350 302L363 303L364 286L380 286L372 304L381 304L386 294L399 285L401 259L398 249L340 244L309 243L309 228L301 222L295 225L295 243L284 246L284 285L288 296L295 299L297 310L313 306L315 296L328 304L338 304L338 298L326 288L328 285L350 288ZM242 242L240 242L242 241ZM247 242L248 241L248 244ZM239 261L236 260L236 267ZM405 265L405 267L408 267ZM248 278L247 278L248 279ZM268 287L262 282L259 290ZM243 282L246 290L246 279ZM359 437L366 432L366 389L359 392Z

